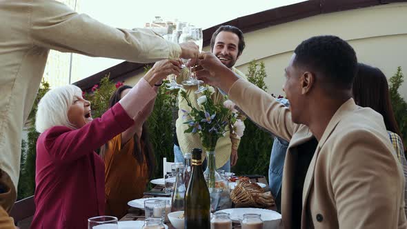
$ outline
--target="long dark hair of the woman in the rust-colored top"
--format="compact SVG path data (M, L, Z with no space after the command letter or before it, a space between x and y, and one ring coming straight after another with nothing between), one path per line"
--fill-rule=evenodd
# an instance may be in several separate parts
M112 96L110 97L109 108L112 108L112 106L115 106L115 104L120 101L121 92L123 92L123 90L130 89L130 88L132 88L132 87L127 86L127 85L123 85L120 88L117 88L115 93L113 93ZM135 148L133 150L133 157L135 157L135 159L137 161L139 161L139 163L143 163L143 160L144 160L143 155L146 155L147 166L148 166L148 175L151 178L152 173L154 172L154 168L155 168L155 155L154 155L154 150L152 150L152 144L150 142L150 137L148 134L148 126L146 125L146 123L143 123L143 130L141 130L141 136L139 137L139 136L137 136L137 134L135 134L133 136L133 139L135 140ZM140 141L138 141L138 139L140 139ZM143 142L143 144L141 144L141 142ZM104 157L107 148L108 148L108 143L106 143L104 146L101 147L100 155L102 158Z

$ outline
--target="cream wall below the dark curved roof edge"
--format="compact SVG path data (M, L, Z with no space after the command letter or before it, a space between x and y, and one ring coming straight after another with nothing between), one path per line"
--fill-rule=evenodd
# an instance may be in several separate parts
M236 66L247 73L250 61L264 61L268 92L284 94L284 68L293 50L304 39L321 34L345 39L355 48L359 62L380 68L387 77L401 66L405 82L399 92L407 99L407 3L321 14L248 32L246 49ZM139 77L127 79L126 84L137 83Z

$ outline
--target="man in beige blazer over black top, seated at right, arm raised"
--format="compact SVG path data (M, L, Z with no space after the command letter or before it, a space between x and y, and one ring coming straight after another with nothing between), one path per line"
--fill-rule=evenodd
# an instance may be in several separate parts
M357 58L346 41L321 36L297 46L284 84L290 108L238 79L210 53L201 54L199 63L201 79L290 141L281 197L284 228L407 228L403 173L381 115L352 99ZM305 165L302 149L315 140Z

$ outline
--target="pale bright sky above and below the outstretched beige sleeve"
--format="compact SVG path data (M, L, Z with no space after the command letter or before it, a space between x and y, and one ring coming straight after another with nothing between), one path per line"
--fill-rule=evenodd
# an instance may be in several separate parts
M155 16L160 16L168 20L187 21L205 29L237 17L301 1L304 0L78 0L77 11L117 28L143 28L146 22L152 21ZM122 62L122 60L106 58L78 58L82 63L79 66L81 78L89 77Z

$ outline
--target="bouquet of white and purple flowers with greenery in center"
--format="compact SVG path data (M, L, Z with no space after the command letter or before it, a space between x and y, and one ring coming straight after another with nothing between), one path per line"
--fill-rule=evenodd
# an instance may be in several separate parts
M215 103L212 94L215 89L208 86L203 95L197 99L198 107L192 106L186 90L181 88L181 96L186 99L190 111L182 110L184 124L189 128L186 133L197 133L206 151L214 151L217 140L224 137L226 132L232 131L238 137L243 136L244 123L237 119L239 113L235 109L235 103L226 100L224 104ZM227 98L226 98L227 99Z

